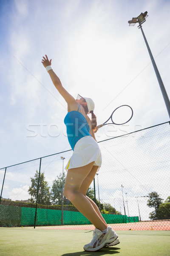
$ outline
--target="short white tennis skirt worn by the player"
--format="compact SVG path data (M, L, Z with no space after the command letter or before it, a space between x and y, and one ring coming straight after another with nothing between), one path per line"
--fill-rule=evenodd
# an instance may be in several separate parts
M82 137L74 146L73 154L65 166L65 170L86 166L94 162L94 166L101 166L102 154L98 143L92 136Z

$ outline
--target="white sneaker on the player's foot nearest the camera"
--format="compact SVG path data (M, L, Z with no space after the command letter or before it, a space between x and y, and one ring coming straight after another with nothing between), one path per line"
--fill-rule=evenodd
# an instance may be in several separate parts
M111 244L118 238L116 232L111 227L108 227L106 232L102 232L97 228L93 232L93 239L89 244L85 244L84 246L85 251L95 252L105 247L105 245Z

